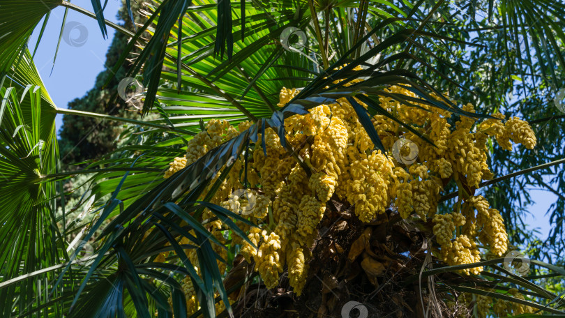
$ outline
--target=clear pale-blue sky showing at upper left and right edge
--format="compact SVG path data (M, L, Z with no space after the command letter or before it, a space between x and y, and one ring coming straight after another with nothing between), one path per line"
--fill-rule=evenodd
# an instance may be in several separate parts
M75 0L73 3L87 10L92 10L90 0ZM112 22L118 22L116 13L120 6L121 0L108 0L104 11L105 18ZM78 45L69 45L65 40L61 40L57 61L52 70L54 52L57 47L64 12L64 8L56 8L52 11L34 61L45 86L47 86L47 91L49 91L57 107L66 108L70 100L84 96L86 91L93 87L96 75L104 68L105 55L114 36L114 29L108 28L109 38L104 39L96 20L69 10L66 24L70 26L69 29L75 26L70 32L70 39L80 40L84 38L84 30L87 31L88 35L84 43ZM84 27L76 27L77 23L75 22ZM36 45L42 23L38 24L38 28L31 36L29 42L31 51ZM61 126L61 118L61 115L57 116L57 127ZM546 216L545 213L557 197L545 190L529 189L529 191L536 204L529 206L530 213L525 221L530 229L539 228L541 238L545 239L550 230L549 216Z

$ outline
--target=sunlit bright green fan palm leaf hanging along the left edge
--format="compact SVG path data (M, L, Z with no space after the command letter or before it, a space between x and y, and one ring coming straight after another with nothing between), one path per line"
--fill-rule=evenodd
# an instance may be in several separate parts
M29 52L26 55L29 58ZM27 63L27 64L25 64ZM24 67L26 66L26 67ZM31 60L23 59L15 78L38 79ZM40 86L2 87L0 106L0 255L1 280L38 271L68 259L54 212L54 182L40 182L57 172L59 151L54 107ZM47 96L48 99L48 96ZM54 280L47 272L0 289L3 316L36 308ZM47 282L47 284L45 283ZM61 289L55 291L59 295ZM60 311L56 305L52 310Z

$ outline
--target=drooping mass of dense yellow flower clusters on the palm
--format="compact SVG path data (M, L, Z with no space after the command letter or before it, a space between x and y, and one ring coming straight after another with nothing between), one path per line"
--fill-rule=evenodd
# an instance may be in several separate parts
M407 87L392 86L387 90L419 98ZM283 88L278 106L283 107L297 93L296 89ZM355 100L366 107L361 100ZM504 149L511 149L510 140L532 149L536 139L527 122L514 117L503 123L502 114L493 114L494 119L482 123L464 115L453 121L451 112L423 103L412 103L418 106L412 107L389 97L379 98L379 103L398 120L412 124L416 132L433 144L379 114L372 117L372 124L386 151L375 151L355 109L346 98L338 98L336 103L319 105L306 115L285 119L287 148L281 145L278 133L272 128L266 128L264 136L259 133L254 148L246 150L250 151L245 169L248 182L244 181L242 155L211 199L261 227L236 222L248 231L248 238L258 249L241 239L233 239L232 244L240 244L241 254L248 262L255 262L255 270L267 287L278 284L278 275L286 264L294 292L301 293L308 272L309 249L330 199L351 204L362 222L371 222L389 208L397 209L402 218L411 215L432 218L439 245L437 255L450 265L479 262L477 240L494 255L506 252L508 237L504 222L497 210L490 209L486 199L464 197L464 202L458 202L458 209L447 215L436 215L437 204L440 192L451 179L467 190L478 188L481 181L492 178L487 161L489 138L497 139ZM475 112L471 104L462 109ZM240 123L239 131L250 126L249 122ZM186 159L176 158L165 177L237 133L238 129L227 121L209 121L206 130L189 141ZM410 165L393 156L393 145L399 137L417 148L417 159ZM402 147L398 156L409 156L411 149ZM296 156L308 166L309 172L299 165ZM250 202L242 205L236 202L241 197L232 196L244 186L250 187L246 191L256 199L251 213L241 213L244 206L250 207ZM221 222L208 227L219 239ZM470 268L464 272L481 270Z

